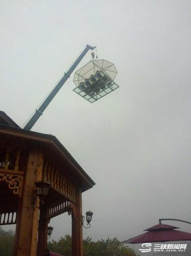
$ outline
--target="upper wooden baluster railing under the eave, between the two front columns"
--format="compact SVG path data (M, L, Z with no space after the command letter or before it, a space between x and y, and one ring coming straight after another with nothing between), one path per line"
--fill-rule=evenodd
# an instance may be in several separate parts
M54 165L44 159L42 179L51 183L61 193L75 202L75 185Z

